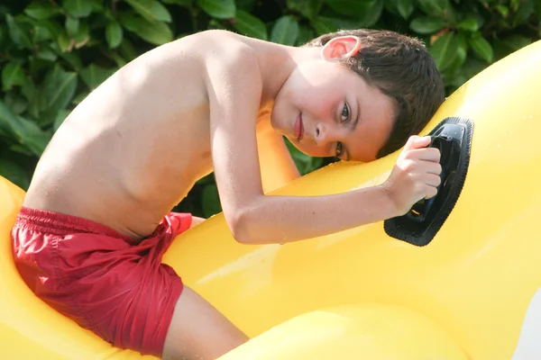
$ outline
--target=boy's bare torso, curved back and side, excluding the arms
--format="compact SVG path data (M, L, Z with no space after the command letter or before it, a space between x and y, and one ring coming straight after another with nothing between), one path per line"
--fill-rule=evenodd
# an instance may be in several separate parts
M181 41L135 59L87 96L43 153L24 206L144 238L212 171L205 58L240 41Z

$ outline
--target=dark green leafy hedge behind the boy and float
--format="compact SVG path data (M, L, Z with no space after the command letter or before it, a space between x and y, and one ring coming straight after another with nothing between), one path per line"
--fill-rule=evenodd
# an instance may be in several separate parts
M287 45L327 31L390 29L424 40L447 94L539 39L539 0L5 0L0 5L0 175L24 189L54 131L85 96L142 52L228 29ZM302 174L332 159L290 146ZM178 211L220 211L214 178Z

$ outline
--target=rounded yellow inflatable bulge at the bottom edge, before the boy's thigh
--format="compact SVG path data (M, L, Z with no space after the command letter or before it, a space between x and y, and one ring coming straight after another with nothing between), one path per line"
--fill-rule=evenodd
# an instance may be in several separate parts
M467 360L426 317L391 305L308 312L270 329L220 360Z

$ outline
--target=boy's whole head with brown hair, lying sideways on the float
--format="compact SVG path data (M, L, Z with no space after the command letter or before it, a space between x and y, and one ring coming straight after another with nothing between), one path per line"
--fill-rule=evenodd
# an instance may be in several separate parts
M384 157L422 130L445 99L436 63L419 40L351 30L322 35L306 47L320 48L321 58L299 64L289 76L272 121L287 135L289 129L289 139L308 155ZM298 112L295 120L280 123L278 117L291 118L291 112Z

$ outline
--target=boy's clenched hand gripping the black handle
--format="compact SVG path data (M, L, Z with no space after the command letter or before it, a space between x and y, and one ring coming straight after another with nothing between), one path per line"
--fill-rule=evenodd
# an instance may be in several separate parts
M436 196L442 172L440 152L437 148L426 148L428 144L429 136L410 137L383 184L390 193L397 216L407 213L419 200Z

